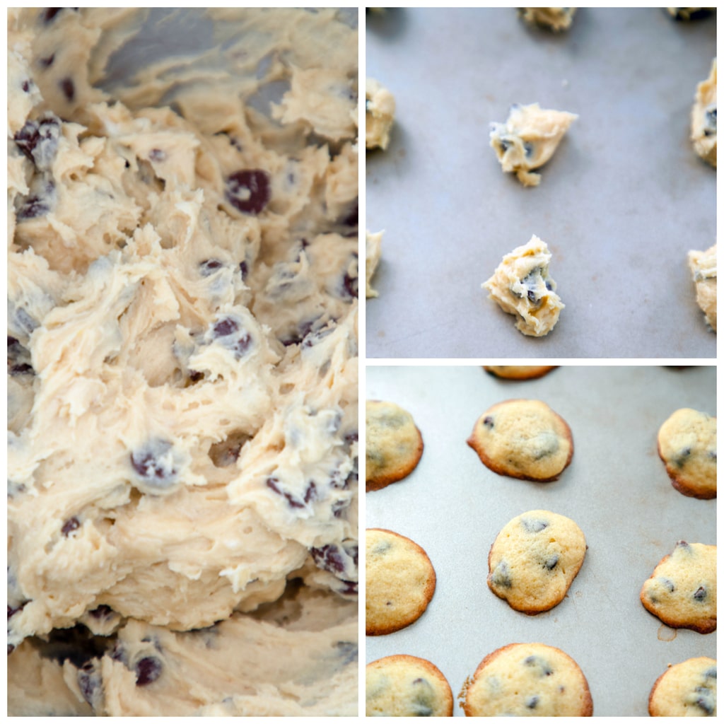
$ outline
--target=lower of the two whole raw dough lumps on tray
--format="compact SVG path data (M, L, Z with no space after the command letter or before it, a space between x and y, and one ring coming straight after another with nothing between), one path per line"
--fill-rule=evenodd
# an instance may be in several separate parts
M515 314L515 328L528 337L544 337L558 321L565 304L556 294L548 265L548 245L536 235L506 254L482 288L502 311Z

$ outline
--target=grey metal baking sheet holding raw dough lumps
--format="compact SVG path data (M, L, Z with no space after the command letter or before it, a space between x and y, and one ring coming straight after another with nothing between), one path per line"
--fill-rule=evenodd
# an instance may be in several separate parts
M366 154L366 224L385 230L369 357L715 357L686 253L715 243L716 172L691 148L689 114L716 14L581 8L560 34L513 8L366 21L366 73L397 99L390 147ZM579 118L524 188L502 174L489 123L534 102ZM480 287L532 234L565 303L540 339Z

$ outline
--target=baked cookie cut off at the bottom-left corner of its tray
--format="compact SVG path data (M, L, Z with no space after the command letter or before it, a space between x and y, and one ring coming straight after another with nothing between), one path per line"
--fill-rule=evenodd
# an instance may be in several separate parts
M451 717L450 684L432 662L407 654L366 667L368 717Z

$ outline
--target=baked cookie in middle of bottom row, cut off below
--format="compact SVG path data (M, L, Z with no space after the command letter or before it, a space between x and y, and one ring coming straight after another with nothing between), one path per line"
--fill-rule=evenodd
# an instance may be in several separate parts
M508 644L488 654L460 692L468 717L590 717L593 701L578 664L546 644Z

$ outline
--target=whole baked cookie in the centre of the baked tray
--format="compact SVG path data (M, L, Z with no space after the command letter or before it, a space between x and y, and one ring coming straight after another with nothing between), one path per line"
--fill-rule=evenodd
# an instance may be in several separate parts
M497 534L488 555L488 586L516 611L547 611L563 600L584 557L586 538L571 518L529 510Z

